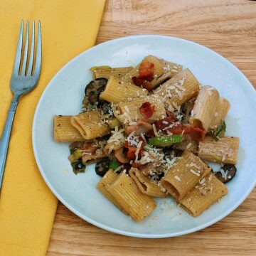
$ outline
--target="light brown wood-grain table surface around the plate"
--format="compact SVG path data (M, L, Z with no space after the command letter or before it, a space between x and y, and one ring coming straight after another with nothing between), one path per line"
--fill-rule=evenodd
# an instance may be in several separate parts
M256 85L256 1L107 1L97 43L145 33L208 46ZM97 228L59 203L47 255L256 255L255 206L256 190L233 213L204 230L148 240Z

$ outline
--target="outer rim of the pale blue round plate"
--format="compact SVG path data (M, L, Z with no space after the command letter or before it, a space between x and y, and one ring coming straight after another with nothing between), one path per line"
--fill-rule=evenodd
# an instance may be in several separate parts
M34 157L36 159L36 164L38 166L38 169L41 173L41 176L43 177L44 181L46 182L46 185L48 186L48 188L50 188L50 191L55 195L56 198L58 198L58 200L63 203L63 205L65 207L67 207L70 211L72 211L73 213L75 213L75 215L78 215L80 218L82 218L82 220L87 221L88 223L91 223L92 225L97 226L97 228L102 228L104 230L110 231L112 233L117 233L119 235L126 235L129 237L134 237L134 238L171 238L171 237L176 237L176 236L181 236L181 235L186 235L189 233L194 233L198 230L202 230L204 228L209 227L210 225L213 225L214 223L217 223L219 220L222 220L223 218L225 218L227 215L229 215L230 213L233 212L233 210L235 210L236 208L238 208L238 206L240 206L242 204L243 201L245 201L245 199L250 195L250 193L252 192L252 190L255 188L256 186L256 180L253 181L252 185L247 189L247 191L244 193L244 195L242 196L242 198L240 199L240 201L237 201L237 203L235 203L235 205L231 208L229 208L228 210L225 211L225 213L219 215L218 217L214 218L213 220L210 220L208 223L204 223L202 225L198 225L194 228L189 228L187 230L183 230L183 231L178 231L175 233L166 233L166 234L144 234L144 233L132 233L129 231L124 231L124 230L119 230L116 228L111 228L105 224L102 224L96 220L93 220L92 218L89 218L85 215L83 215L82 213L80 213L78 210L76 210L75 208L73 208L73 206L70 206L70 204L68 203L68 201L65 201L65 199L60 195L60 193L58 193L58 191L55 190L54 186L52 185L52 183L50 183L50 180L47 178L47 176L44 174L43 168L41 166L41 163L39 161L38 158L38 153L36 151L36 138L35 138L35 129L36 129L36 119L38 116L38 112L39 109L41 107L41 102L43 101L43 98L46 94L46 91L48 90L49 86L54 82L54 80L56 79L56 77L58 77L58 75L60 75L60 73L62 72L63 69L65 69L68 65L70 65L70 63L73 63L74 61L77 60L77 58L80 58L81 55L90 52L91 50L94 50L95 48L100 48L102 47L102 45L105 44L109 44L109 43L113 43L115 41L122 41L122 40L127 40L127 39L136 39L136 38L171 38L177 41L184 41L186 43L190 43L192 45L196 45L196 46L200 46L205 48L206 50L210 50L211 53L214 53L215 55L218 55L219 58L221 58L222 60L225 61L225 63L227 63L228 65L232 65L233 68L235 68L235 70L240 73L240 75L242 75L242 77L247 81L247 83L250 85L250 90L252 93L255 94L256 96L256 92L255 92L255 88L252 85L252 82L250 82L250 80L242 73L241 70L239 70L232 62L230 62L230 60L226 59L225 57L223 57L223 55L220 55L220 53L215 52L215 50L211 50L210 48L201 45L200 43L195 43L193 41L189 41L183 38L178 38L178 37L174 37L174 36L164 36L164 35L154 35L154 34L143 34L143 35L134 35L134 36L123 36L123 37L119 37L119 38L114 38L110 41L105 41L103 43L100 43L96 46L92 46L91 48L83 51L82 53L79 53L78 55L76 55L74 58L70 59L68 61L68 63L65 63L65 65L62 66L62 68L60 68L58 70L57 73L55 73L55 75L53 75L53 78L50 79L50 81L48 82L48 84L46 85L46 87L43 90L43 93L41 94L40 99L38 100L38 104L36 106L36 111L34 113L33 116L33 126L32 126L32 146L33 146L33 154ZM248 87L249 90L249 87Z

